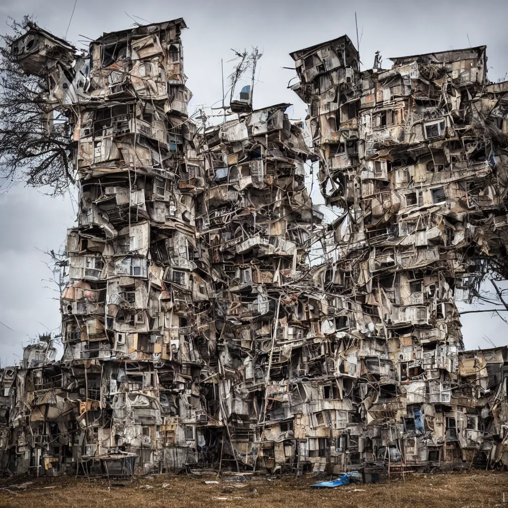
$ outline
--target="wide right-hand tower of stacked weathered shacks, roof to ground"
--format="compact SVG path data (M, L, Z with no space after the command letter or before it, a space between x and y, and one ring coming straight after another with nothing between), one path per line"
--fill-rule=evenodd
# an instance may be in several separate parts
M506 463L506 351L461 353L455 302L487 271L507 274L507 83L488 82L484 46L392 58L390 70L376 53L363 72L347 36L291 56L322 194L339 208L312 268L353 394L350 441L335 450Z

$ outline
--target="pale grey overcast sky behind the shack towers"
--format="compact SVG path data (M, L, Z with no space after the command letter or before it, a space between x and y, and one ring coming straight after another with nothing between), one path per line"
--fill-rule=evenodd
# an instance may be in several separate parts
M356 44L355 11L364 68L372 66L376 50L385 58L384 67L389 68L389 56L487 45L489 78L505 79L508 71L508 2L79 0L69 25L73 6L73 0L0 0L0 19L20 20L30 14L41 27L59 37L65 37L69 26L67 40L84 49L86 45L79 41L130 27L133 20L127 14L148 22L183 17L188 26L182 35L185 74L194 93L191 110L193 105L210 106L220 101L220 60L224 59L227 76L231 72L231 48L257 46L263 57L258 64L254 107L288 102L294 104L292 118L304 117L304 104L287 89L295 76L283 69L294 67L289 53L343 34ZM8 31L7 25L3 26L0 30ZM44 280L51 272L43 251L57 250L74 220L70 197L50 198L20 186L0 195L2 366L19 362L21 345L29 338L59 328L56 293ZM497 346L508 343L508 325L490 313L466 314L462 324L467 348L490 347L484 336Z

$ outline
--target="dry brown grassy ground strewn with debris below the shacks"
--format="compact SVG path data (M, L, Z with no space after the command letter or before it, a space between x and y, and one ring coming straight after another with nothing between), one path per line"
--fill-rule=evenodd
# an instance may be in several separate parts
M197 479L162 474L132 482L112 480L108 488L107 479L13 477L0 481L0 508L508 508L508 472L406 475L405 481L392 479L390 484L320 490L310 488L315 482L311 477L230 474Z

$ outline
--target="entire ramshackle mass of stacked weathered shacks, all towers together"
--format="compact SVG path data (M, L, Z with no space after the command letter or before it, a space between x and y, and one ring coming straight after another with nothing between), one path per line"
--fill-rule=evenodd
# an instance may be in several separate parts
M508 465L508 348L463 351L455 305L508 267L508 85L487 81L485 47L360 71L343 36L292 53L304 122L253 110L246 86L201 129L184 28L83 54L29 25L13 44L67 117L43 122L75 142L80 210L63 355L44 337L1 369L2 467Z

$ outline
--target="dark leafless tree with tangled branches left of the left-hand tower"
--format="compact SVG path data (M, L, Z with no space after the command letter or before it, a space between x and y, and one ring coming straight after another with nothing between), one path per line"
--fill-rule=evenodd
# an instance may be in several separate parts
M11 34L0 36L2 186L22 182L48 186L50 194L61 195L74 182L70 125L57 111L53 120L47 77L24 72L11 51L11 44L35 24L25 17L22 23L12 20L10 26Z

